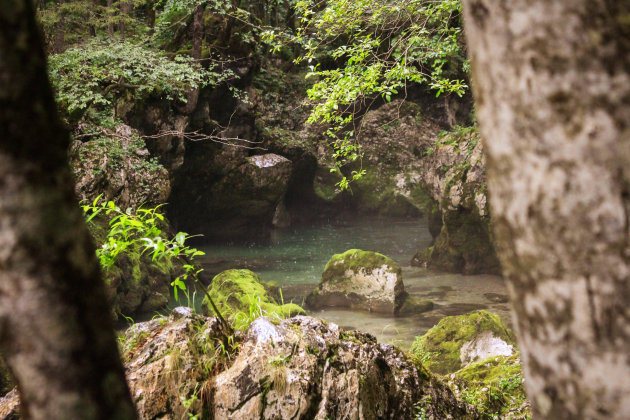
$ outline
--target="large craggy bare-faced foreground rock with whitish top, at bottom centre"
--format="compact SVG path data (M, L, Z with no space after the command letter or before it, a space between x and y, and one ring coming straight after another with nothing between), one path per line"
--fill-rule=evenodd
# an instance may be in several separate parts
M297 316L254 321L234 364L214 378L214 418L478 418L396 347Z

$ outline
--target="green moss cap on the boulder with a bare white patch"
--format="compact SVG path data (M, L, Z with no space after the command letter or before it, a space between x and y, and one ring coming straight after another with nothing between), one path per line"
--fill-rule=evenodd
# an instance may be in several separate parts
M462 368L462 346L485 331L491 331L506 343L514 344L513 334L498 315L479 310L443 318L414 341L411 352L432 372L452 373Z

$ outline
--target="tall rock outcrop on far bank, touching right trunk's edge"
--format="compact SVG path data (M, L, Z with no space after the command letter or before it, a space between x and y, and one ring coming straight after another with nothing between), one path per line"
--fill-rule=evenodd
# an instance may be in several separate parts
M437 137L420 166L420 188L411 195L425 203L434 244L421 249L412 264L467 274L499 274L483 147L476 128L459 127Z

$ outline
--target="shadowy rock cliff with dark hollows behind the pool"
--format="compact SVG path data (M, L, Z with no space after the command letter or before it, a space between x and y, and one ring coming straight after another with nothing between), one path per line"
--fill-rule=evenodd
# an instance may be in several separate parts
M80 195L104 192L121 206L168 202L177 230L216 240L256 239L347 212L424 215L434 244L414 264L498 273L474 129L444 134L452 113L426 94L374 107L357 120L363 157L344 169L367 173L341 191L325 127L305 124L304 75L282 71L281 63L243 66L237 84L247 100L224 88L202 90L186 118L165 100L121 100L117 115L135 128L122 125L74 147Z

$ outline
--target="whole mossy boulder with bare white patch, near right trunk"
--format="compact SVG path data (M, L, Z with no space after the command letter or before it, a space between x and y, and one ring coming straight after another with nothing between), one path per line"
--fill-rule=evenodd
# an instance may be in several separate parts
M447 316L411 347L432 372L452 373L478 360L511 356L514 336L501 318L485 310Z

